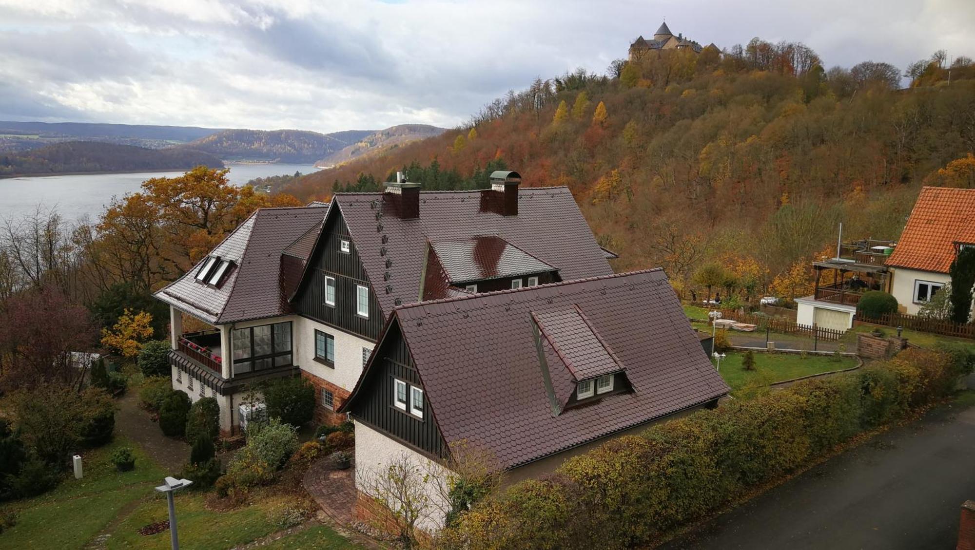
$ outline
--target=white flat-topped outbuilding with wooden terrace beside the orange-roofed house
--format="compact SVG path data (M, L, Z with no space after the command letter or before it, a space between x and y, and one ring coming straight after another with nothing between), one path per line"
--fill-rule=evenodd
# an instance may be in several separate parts
M860 296L890 292L890 269L884 261L896 243L864 239L843 244L838 255L813 261L816 286L812 295L796 298L796 322L836 331L853 327Z

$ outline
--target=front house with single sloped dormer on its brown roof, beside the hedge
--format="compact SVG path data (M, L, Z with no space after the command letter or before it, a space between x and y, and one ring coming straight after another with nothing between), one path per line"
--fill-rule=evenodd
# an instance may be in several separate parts
M448 464L452 450L473 447L513 482L714 407L728 389L652 269L396 307L342 411L356 423L369 516L363 476L404 453ZM427 490L438 500L435 483ZM443 520L435 512L420 527Z

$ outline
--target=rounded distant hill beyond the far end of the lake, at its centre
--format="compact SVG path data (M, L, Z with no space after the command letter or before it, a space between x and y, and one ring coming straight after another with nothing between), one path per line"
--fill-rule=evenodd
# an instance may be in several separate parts
M224 130L181 147L222 159L312 164L370 136L374 130L319 134L301 130Z

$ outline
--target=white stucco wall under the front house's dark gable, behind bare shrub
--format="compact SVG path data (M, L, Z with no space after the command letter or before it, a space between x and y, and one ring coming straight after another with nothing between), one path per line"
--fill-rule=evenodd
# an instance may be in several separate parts
M361 422L355 424L356 489L369 493L369 487L364 484L364 481L370 479L371 476L382 475L384 466L389 464L391 459L396 459L401 455L406 456L409 462L418 469L420 476L430 470L438 473L438 475L431 476L431 479L424 484L423 490L431 504L426 510L426 517L417 522L417 527L431 533L443 528L449 504L447 499L443 497L443 491L439 489L438 482L446 483L446 477L443 475L444 467Z

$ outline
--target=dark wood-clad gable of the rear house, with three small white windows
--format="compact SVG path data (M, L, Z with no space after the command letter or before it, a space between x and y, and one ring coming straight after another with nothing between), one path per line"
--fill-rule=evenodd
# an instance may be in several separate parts
M350 243L350 252L343 253L339 242ZM382 311L372 294L372 286L356 252L356 244L349 236L341 212L331 213L324 229L319 250L311 258L310 280L294 300L297 312L352 334L375 340L382 330ZM325 303L325 278L335 278L335 305ZM369 319L356 313L356 286L370 289Z

